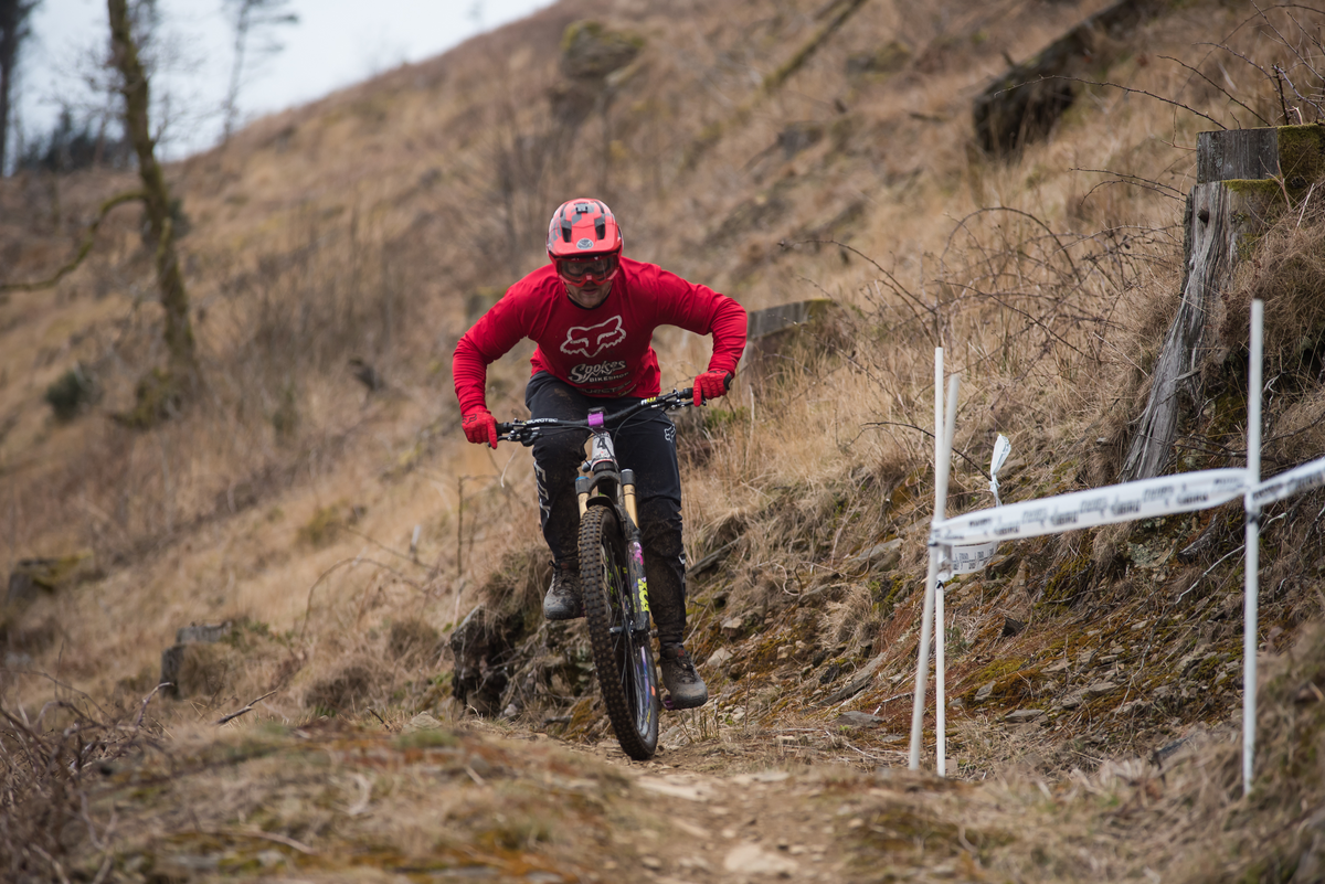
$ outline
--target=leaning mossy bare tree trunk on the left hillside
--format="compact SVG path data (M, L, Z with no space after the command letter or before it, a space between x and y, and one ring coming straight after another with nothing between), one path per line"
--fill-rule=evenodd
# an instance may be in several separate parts
M193 328L188 319L188 292L184 288L179 254L175 250L170 189L156 161L156 146L147 118L147 73L134 44L126 0L107 0L106 5L110 12L111 53L115 69L123 81L125 132L138 155L147 225L151 241L156 246L156 287L160 291L162 308L166 311L164 339L170 353L170 375L176 389L182 390L197 378L197 357Z

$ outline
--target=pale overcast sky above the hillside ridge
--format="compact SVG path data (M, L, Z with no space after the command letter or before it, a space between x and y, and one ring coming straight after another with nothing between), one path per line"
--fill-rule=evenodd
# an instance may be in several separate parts
M257 61L240 93L253 118L321 98L403 62L421 61L554 0L292 0L299 16L268 33L284 50ZM178 107L212 111L182 119L167 152L178 159L212 146L229 82L233 30L221 0L159 0L166 79ZM62 102L86 105L89 58L105 46L105 0L41 0L24 45L19 119L25 132L46 132ZM257 37L254 40L261 40ZM248 67L248 65L246 65ZM154 83L154 90L156 85Z

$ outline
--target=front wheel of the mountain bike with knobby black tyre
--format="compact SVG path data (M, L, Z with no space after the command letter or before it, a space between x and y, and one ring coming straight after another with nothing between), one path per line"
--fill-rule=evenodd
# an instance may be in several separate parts
M648 630L633 630L625 539L608 507L580 519L580 589L603 704L625 754L648 761L659 745L659 688Z

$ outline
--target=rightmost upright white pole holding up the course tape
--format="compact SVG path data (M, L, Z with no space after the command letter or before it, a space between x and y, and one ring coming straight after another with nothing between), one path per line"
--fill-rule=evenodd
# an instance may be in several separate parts
M1251 302L1251 353L1247 363L1247 561L1243 589L1243 794L1251 791L1252 762L1256 757L1256 614L1259 607L1260 508L1252 503L1252 490L1260 484L1260 388L1265 306Z

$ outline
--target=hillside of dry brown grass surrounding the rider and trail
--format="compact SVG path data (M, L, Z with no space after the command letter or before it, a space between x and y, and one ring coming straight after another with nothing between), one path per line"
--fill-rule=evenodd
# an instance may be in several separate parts
M1158 4L1079 62L1075 101L1045 138L1012 156L982 151L978 93L1104 7L953 0L918 15L888 0L624 0L604 13L562 0L262 119L168 169L188 222L204 389L148 430L117 420L162 361L136 208L114 209L57 285L0 294L0 536L9 570L46 557L54 572L3 621L11 868L53 868L28 842L87 880L103 863L126 879L276 875L284 863L331 876L351 855L419 875L473 863L513 880L594 880L586 869L606 868L580 848L615 843L627 823L613 802L648 787L612 777L640 772L594 774L592 787L534 782L579 762L492 741L539 733L604 756L611 734L580 627L537 617L545 553L527 453L465 445L449 377L460 333L546 259L549 213L580 195L612 205L629 254L750 310L824 296L844 306L831 333L751 359L727 400L682 422L689 560L722 553L689 581L688 643L714 701L664 721L661 764L713 777L808 765L796 801L849 810L824 810L824 838L782 852L847 851L818 867L825 880L877 880L874 858L902 843L920 846L905 860L917 869L937 876L937 851L954 875L999 880L1147 867L1289 880L1318 862L1314 644L1288 650L1320 609L1320 495L1268 513L1261 638L1279 680L1252 799L1239 799L1228 742L1242 672L1232 507L1020 541L950 586L950 772L1000 785L949 793L922 777L935 802L925 803L902 798L912 781L874 773L902 766L910 717L933 348L962 375L950 512L990 503L977 467L998 433L1014 445L1006 502L1114 482L1178 302L1196 132L1279 124L1288 106L1306 123L1318 112L1321 13ZM105 171L0 181L0 282L48 277L98 206L132 188L131 175ZM1321 202L1293 199L1212 320L1174 470L1244 462L1253 294L1269 300L1267 471L1325 445ZM655 345L665 385L706 363L706 341L677 330ZM502 420L525 414L530 352L526 341L490 372ZM380 388L355 377L366 365ZM45 397L69 377L91 394L57 417ZM496 724L476 724L452 697L444 639L478 602L507 615L513 644ZM186 652L184 696L144 701L175 631L221 622L232 623L223 642ZM878 721L861 728L844 712ZM416 740L436 745L399 737L421 713L443 728ZM114 721L123 728L98 730L89 749L58 737ZM453 736L460 721L478 729ZM302 758L301 741L330 769L262 769ZM370 782L346 761L360 749L390 777ZM62 764L33 773L45 764L34 758L61 752L114 761L99 785L52 773ZM461 761L476 754L521 785L492 791L488 769ZM447 782L489 790L484 801L533 822L437 811L437 826L454 824L444 850L356 828L372 802L411 813L423 798L390 782L437 765ZM231 768L232 779L205 775L249 798L184 820L189 795L221 786L192 773L170 785L162 770ZM599 834L539 822L546 790L580 795ZM94 798L86 838L45 842L34 832L54 823L26 828L37 806L46 822L80 819L81 795ZM1289 797L1301 817L1281 817ZM253 810L264 803L278 810ZM986 805L996 813L963 834ZM117 806L134 818L118 842L106 828ZM1195 809L1186 822L1181 807ZM701 828L723 831L719 817ZM254 827L288 859L238 846ZM1203 854L1219 827L1232 832L1227 852ZM200 840L179 847L189 838ZM647 875L717 880L733 872L718 847L710 869L662 863ZM167 854L231 859L154 872ZM337 859L301 859L315 855Z

